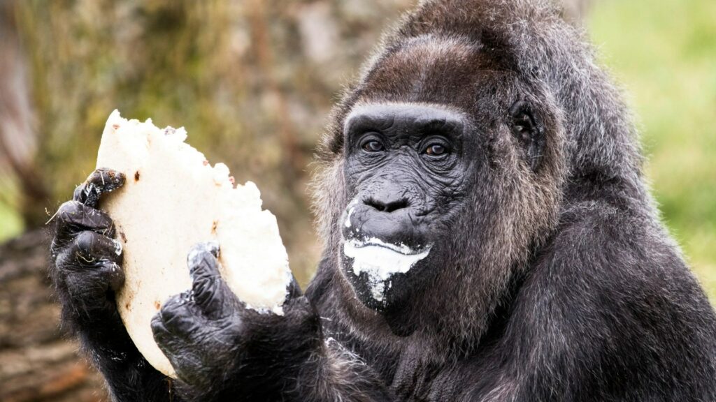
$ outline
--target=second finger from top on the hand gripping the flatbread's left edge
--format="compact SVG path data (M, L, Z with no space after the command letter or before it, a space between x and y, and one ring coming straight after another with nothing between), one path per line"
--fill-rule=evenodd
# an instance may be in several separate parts
M82 230L92 230L107 237L115 236L115 225L110 215L81 202L65 202L59 206L56 216L55 237L58 242L69 240Z

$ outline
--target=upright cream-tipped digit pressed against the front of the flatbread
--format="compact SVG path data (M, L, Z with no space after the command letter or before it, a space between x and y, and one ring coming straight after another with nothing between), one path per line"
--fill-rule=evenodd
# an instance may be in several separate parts
M198 243L187 257L193 302L210 319L231 314L231 305L236 299L219 273L218 250L216 242Z

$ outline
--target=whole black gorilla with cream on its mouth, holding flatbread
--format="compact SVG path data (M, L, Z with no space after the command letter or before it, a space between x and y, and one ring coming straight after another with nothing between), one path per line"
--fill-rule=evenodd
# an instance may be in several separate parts
M284 315L197 245L193 288L128 338L97 170L59 209L63 320L115 401L716 401L716 317L659 220L636 129L541 0L428 0L384 36L319 146L324 251Z

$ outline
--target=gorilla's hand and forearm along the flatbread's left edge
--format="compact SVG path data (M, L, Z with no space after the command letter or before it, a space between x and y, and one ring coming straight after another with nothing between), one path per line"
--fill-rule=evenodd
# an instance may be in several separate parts
M114 401L168 401L164 377L127 335L115 304L124 283L122 249L115 226L100 210L100 195L121 187L120 172L98 169L59 207L50 275L62 304L62 322L79 336L102 371ZM178 401L178 398L174 398Z

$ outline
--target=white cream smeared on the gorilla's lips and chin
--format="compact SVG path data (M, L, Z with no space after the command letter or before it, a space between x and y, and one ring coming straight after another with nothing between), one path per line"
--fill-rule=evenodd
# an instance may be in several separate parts
M353 273L367 273L371 295L382 301L385 281L396 273L407 273L418 261L427 257L431 245L422 250L413 250L407 245L394 245L376 237L367 240L347 240L343 253L353 259ZM390 283L388 284L390 287Z

